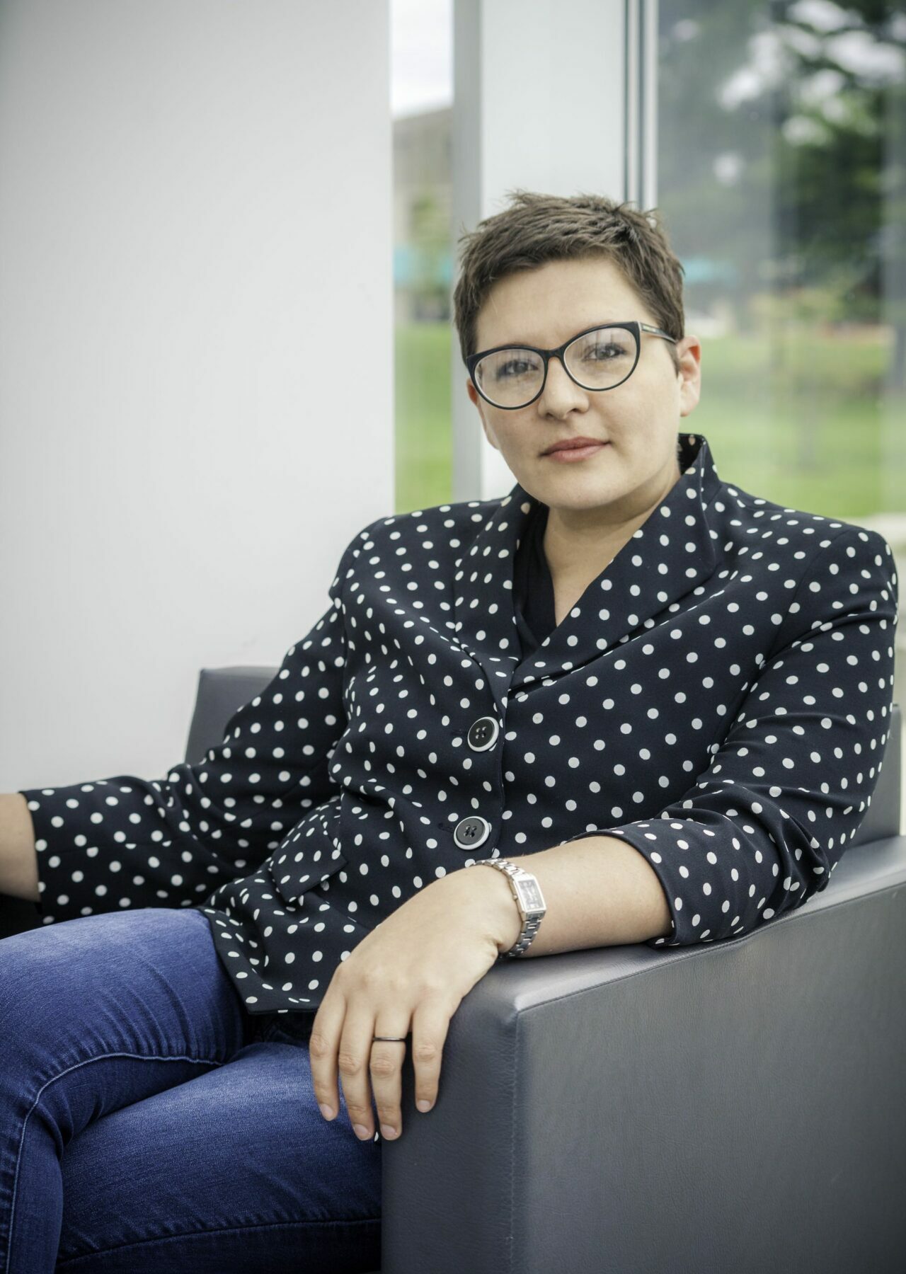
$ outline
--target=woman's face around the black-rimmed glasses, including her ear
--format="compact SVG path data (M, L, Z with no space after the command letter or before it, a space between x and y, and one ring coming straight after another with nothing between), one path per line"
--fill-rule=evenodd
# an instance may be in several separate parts
M632 285L605 257L549 261L494 284L478 315L478 349L528 344L550 349L595 324L637 318L659 326ZM641 338L635 372L612 390L585 390L552 358L544 392L529 406L492 406L466 381L488 442L517 482L550 508L610 508L632 517L679 478L677 433L680 417L698 403L701 345L686 336L669 341ZM607 443L584 460L544 455L561 438L587 437ZM568 515L567 515L568 516Z

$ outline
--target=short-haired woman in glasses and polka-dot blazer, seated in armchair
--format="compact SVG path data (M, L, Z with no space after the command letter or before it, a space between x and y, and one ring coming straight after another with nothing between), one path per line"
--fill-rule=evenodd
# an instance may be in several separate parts
M9 1270L376 1268L409 1036L429 1108L498 958L733 940L865 815L891 549L678 434L701 345L656 218L520 192L454 302L512 490L361 530L201 763L5 799L51 926L0 948Z

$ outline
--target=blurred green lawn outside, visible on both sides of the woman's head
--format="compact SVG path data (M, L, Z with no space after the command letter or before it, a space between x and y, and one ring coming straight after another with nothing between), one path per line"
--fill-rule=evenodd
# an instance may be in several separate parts
M396 327L398 513L452 499L452 340L449 322ZM883 395L888 358L868 329L702 338L701 400L682 428L754 496L850 521L905 512L906 399Z

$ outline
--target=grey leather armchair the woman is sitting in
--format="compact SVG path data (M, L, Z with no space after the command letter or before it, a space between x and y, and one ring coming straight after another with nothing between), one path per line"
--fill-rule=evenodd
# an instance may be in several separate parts
M201 671L187 759L275 668ZM435 1108L404 1066L375 1274L901 1274L901 713L856 841L800 910L728 943L491 970Z

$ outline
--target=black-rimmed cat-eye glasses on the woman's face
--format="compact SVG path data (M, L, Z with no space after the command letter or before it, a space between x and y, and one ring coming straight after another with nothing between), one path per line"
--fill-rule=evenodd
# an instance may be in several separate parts
M548 363L554 357L559 358L567 376L584 390L615 390L636 369L644 331L677 344L669 333L633 318L589 327L558 349L496 345L471 354L465 362L471 383L484 401L505 412L515 412L540 397L548 380Z

